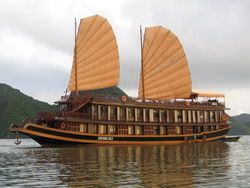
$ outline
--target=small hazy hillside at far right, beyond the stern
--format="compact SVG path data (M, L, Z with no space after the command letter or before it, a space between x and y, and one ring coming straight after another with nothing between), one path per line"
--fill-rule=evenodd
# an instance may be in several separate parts
M230 135L250 135L250 114L240 114L230 118L232 128Z

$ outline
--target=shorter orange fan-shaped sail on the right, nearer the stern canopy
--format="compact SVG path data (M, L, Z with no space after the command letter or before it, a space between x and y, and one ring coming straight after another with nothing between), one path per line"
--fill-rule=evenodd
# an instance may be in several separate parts
M145 29L139 97L146 99L189 98L192 81L188 62L178 38L157 26ZM144 95L143 92L144 91Z

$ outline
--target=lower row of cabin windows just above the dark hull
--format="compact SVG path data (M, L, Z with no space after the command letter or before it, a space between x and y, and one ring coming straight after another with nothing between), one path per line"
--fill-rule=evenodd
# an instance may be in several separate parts
M79 133L108 135L183 135L200 134L229 127L226 123L207 124L105 124L62 121L54 128Z

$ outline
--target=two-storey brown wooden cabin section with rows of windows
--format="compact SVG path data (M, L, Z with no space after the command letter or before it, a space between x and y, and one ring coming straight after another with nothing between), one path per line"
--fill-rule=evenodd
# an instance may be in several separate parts
M218 100L142 101L126 95L99 94L90 98L86 93L77 100L77 107L58 102L59 120L65 130L108 135L183 135L227 127L225 106Z

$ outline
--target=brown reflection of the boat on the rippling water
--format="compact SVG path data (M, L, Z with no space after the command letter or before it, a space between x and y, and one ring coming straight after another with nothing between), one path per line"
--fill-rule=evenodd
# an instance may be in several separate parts
M60 166L55 171L57 182L70 187L218 185L227 179L230 167L228 145L221 142L56 148L51 152L54 157L48 161Z

